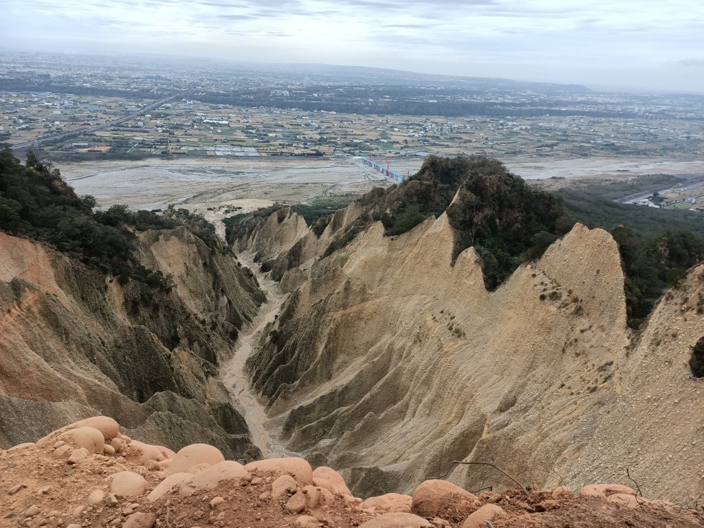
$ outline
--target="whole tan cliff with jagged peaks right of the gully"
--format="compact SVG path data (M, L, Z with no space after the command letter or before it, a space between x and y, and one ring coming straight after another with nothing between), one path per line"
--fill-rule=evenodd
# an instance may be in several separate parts
M681 303L699 298L700 271L632 344L607 232L576 225L493 292L472 248L452 262L454 241L446 215L398 237L376 222L282 273L292 293L248 367L287 447L360 494L448 472L467 489L513 486L453 467L484 460L537 486L627 483L629 469L644 492L686 500L703 474L687 413L704 396L686 359L704 320ZM279 265L298 264L277 251ZM670 450L673 434L683 451Z

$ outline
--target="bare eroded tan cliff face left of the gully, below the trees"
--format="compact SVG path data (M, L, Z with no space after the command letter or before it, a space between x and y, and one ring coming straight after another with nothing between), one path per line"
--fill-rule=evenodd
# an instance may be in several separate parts
M215 377L264 299L256 279L185 228L140 234L138 253L172 275L171 291L107 282L0 233L0 445L103 414L144 441L207 441L230 458L258 456Z

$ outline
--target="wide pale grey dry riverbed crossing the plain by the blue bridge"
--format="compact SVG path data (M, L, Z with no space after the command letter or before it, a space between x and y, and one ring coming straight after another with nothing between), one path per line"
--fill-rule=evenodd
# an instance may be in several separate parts
M418 156L375 159L403 175L413 175ZM631 178L666 173L704 173L704 161L663 158L505 158L509 170L527 180L550 177ZM160 209L170 203L217 224L223 216L246 213L275 201L298 203L324 196L361 195L396 183L358 158L188 158L164 161L103 161L59 165L78 194L92 194L99 206ZM555 181L555 180L552 180ZM569 182L563 182L560 187Z

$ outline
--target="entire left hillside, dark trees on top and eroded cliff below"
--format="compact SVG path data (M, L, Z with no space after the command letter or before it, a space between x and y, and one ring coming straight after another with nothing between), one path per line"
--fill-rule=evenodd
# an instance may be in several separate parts
M0 231L0 445L104 413L139 439L258 457L218 381L264 300L251 272L198 218L93 213L58 172L1 159L0 227L31 239Z

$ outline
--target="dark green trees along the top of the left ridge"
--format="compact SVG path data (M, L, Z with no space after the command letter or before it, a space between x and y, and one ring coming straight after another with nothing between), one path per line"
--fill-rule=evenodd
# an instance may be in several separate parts
M169 289L161 272L147 270L134 258L134 231L186 225L214 247L215 228L187 210L169 208L163 215L113 206L94 213L92 196L77 196L50 164L30 151L22 165L9 149L0 151L0 230L54 246L58 251L118 277L134 278Z

